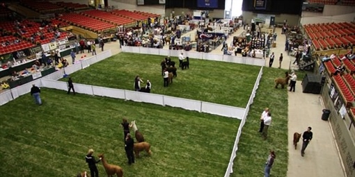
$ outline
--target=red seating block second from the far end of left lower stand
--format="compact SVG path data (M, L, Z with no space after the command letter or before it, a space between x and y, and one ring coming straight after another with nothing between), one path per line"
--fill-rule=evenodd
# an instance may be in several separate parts
M129 24L134 24L136 22L132 19L119 17L118 15L113 15L110 12L105 12L102 10L88 10L88 11L81 12L81 14L100 19L104 22L116 24L116 26L129 25Z

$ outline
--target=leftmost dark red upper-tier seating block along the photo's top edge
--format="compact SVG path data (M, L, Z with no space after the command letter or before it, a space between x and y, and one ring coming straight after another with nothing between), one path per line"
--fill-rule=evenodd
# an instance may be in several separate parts
M64 10L63 7L48 1L22 0L20 4L27 8L31 8L32 10L36 10L42 14L61 12Z

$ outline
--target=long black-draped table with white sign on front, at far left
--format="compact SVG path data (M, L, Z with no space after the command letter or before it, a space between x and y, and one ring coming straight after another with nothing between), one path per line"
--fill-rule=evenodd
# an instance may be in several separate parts
M37 78L41 78L43 76L47 76L48 74L52 74L56 71L56 67L50 67L49 69L45 69L40 72L36 72L34 74L29 74L27 76L19 76L18 79L15 81L8 81L8 85L10 85L10 88L17 87L19 85L23 85L25 83L29 83L33 80L36 80Z

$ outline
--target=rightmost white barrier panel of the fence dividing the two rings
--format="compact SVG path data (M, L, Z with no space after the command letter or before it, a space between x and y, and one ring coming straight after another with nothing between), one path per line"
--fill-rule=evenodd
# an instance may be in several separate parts
M232 106L225 106L216 103L202 102L201 112L207 112L212 115L221 115L224 117L233 117L237 119L242 119L245 109L236 108Z

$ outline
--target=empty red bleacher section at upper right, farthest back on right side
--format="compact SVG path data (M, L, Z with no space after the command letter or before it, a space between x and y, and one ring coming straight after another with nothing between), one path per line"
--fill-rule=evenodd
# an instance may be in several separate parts
M355 44L354 23L309 24L303 28L317 51L340 49L342 44Z

